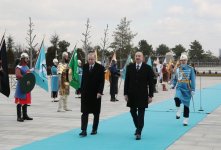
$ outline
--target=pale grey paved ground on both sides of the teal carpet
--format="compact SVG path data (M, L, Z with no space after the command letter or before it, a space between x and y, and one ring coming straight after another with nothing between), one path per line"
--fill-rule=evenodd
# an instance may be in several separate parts
M205 88L214 84L221 83L218 77L201 77L201 87ZM197 78L197 87L200 87L200 77ZM123 82L118 96L119 102L110 102L109 84L106 82L102 100L101 119L107 119L123 112L128 112L126 103L123 99ZM219 91L218 91L219 92ZM218 93L217 92L217 93ZM43 91L37 86L32 92L32 105L28 107L29 116L33 121L23 123L16 121L16 109L14 104L14 89L11 91L10 98L0 95L0 149L8 150L40 140L55 134L59 134L73 128L80 127L80 99L75 98L74 90L69 96L69 106L71 112L56 112L58 103L51 102L50 93ZM174 90L167 92L161 91L155 94L154 102L172 98ZM168 149L184 150L218 150L221 149L221 107L208 115L196 127L192 128ZM92 116L90 116L90 122ZM169 135L168 135L169 136Z

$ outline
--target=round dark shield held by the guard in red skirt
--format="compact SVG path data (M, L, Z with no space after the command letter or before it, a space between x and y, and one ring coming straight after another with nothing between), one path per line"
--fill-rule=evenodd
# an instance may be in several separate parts
M21 90L24 93L30 92L35 87L35 76L32 73L27 73L20 80Z

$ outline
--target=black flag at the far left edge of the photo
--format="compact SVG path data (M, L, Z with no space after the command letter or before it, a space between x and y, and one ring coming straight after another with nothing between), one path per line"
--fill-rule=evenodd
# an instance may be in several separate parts
M8 61L4 36L0 43L0 92L7 97L10 95Z

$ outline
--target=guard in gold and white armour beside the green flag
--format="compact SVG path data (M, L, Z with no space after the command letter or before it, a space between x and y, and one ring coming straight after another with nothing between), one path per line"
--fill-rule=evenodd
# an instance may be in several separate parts
M60 99L58 103L58 112L62 111L62 105L65 111L71 111L71 109L69 109L67 106L67 99L70 93L69 78L71 74L71 70L69 69L68 66L67 52L62 53L62 60L58 64L58 74L59 74L59 94L60 94Z

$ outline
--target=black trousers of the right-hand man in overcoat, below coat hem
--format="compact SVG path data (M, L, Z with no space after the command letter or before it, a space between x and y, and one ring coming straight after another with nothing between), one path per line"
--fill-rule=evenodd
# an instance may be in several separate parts
M130 113L136 127L136 133L141 134L144 127L145 108L130 108Z

